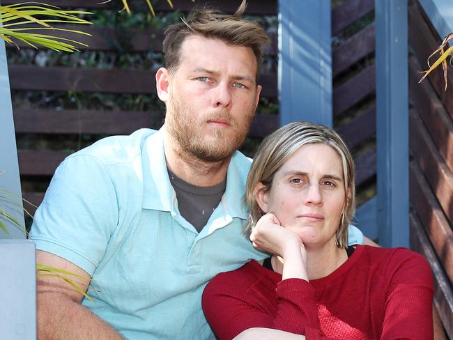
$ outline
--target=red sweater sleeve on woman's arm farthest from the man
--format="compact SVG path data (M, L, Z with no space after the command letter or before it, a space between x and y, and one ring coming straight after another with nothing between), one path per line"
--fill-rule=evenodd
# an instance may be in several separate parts
M407 249L390 258L381 340L433 339L433 278L427 261Z

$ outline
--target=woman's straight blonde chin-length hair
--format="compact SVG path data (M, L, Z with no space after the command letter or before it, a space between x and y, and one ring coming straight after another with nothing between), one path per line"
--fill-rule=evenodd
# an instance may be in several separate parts
M339 134L330 127L307 122L289 123L270 134L259 147L247 177L245 203L249 207L249 218L245 224L245 234L250 235L253 226L263 215L256 202L256 185L263 183L264 190L270 190L275 172L289 160L301 146L325 144L333 148L341 157L344 174L345 200L339 228L335 233L335 243L340 248L348 244L348 224L355 211L354 163L351 152Z

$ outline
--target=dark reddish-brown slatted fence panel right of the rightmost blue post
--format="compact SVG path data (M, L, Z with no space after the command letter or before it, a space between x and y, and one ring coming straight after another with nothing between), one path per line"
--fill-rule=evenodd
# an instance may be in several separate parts
M410 247L431 263L435 304L453 339L453 75L441 68L422 84L420 70L442 39L417 1L409 3Z

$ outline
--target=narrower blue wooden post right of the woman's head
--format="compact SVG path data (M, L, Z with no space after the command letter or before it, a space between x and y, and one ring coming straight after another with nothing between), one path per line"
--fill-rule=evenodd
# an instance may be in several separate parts
M378 238L409 246L407 0L375 0Z

